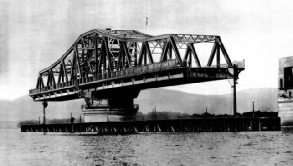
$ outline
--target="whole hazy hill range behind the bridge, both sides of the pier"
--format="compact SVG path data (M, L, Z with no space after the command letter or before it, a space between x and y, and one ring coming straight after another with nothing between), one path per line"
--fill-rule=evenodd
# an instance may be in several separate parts
M238 112L251 111L252 100L255 100L255 109L261 111L277 111L277 89L261 88L248 89L237 92ZM74 117L81 114L83 99L66 102L49 102L46 108L47 118L68 118L70 112ZM199 95L163 88L143 90L135 99L141 112L151 112L154 107L157 111L203 113L208 106L212 114L231 113L231 94L226 95ZM0 121L38 120L42 118L42 103L34 102L28 95L13 101L0 100Z

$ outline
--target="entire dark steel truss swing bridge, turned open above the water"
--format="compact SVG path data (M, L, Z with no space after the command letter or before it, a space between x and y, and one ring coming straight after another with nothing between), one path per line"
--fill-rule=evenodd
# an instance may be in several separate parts
M206 65L195 49L201 43L213 44ZM244 68L244 62L231 62L220 36L94 29L80 35L60 59L39 72L29 95L45 103L84 98L86 109L135 112L133 99L142 89L237 80Z

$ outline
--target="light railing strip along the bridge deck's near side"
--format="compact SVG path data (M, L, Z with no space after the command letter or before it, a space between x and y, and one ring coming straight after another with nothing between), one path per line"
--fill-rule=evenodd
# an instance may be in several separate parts
M55 89L74 87L74 86L76 86L76 83L78 83L78 85L82 85L85 83L90 83L90 82L105 80L105 79L110 79L110 78L128 77L128 76L135 76L135 75L139 75L139 74L145 74L148 72L168 70L168 69L179 67L179 66L177 66L177 64L178 64L177 60L172 59L172 60L167 60L164 62L158 62L158 63L148 64L148 65L144 65L144 66L122 69L120 71L115 71L115 72L110 72L110 73L107 72L107 73L93 75L90 77L83 77L83 78L77 79L77 81L71 80L68 82L64 82L64 83L60 83L60 84L56 84L56 85L52 85L52 86L31 89L31 90L29 90L29 93L30 93L30 95L31 94L38 94L38 93L43 93L43 92L47 92L47 91L52 91Z

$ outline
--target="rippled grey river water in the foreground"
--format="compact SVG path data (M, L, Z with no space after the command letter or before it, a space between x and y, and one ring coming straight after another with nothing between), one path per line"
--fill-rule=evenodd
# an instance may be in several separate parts
M293 165L293 131L80 136L0 130L0 165Z

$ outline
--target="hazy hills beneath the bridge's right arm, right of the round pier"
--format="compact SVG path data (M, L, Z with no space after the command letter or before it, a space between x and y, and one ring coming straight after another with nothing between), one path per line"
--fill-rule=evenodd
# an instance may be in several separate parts
M251 111L252 100L255 100L255 110L277 111L277 89L275 88L248 89L237 92L238 112ZM141 91L135 102L140 104L142 112L152 111L156 107L157 111L202 113L208 106L210 113L230 114L232 108L231 94L199 95L167 89Z

